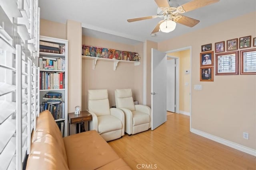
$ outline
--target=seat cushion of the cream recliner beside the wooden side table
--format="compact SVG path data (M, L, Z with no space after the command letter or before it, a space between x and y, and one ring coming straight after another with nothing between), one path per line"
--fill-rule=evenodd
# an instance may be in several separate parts
M122 122L115 116L104 115L98 116L98 133L106 133L122 129Z

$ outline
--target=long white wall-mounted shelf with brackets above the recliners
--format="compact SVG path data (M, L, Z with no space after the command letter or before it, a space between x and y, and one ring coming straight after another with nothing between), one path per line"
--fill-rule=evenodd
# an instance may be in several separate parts
M125 61L125 60L116 60L116 59L105 59L105 58L98 58L98 57L90 57L90 56L84 56L82 55L82 59L91 59L92 61L92 69L95 70L96 68L96 63L98 60L103 60L103 61L110 61L114 63L114 68L113 70L116 70L116 67L118 65L118 63L134 63L134 66L138 66L140 65L139 61Z

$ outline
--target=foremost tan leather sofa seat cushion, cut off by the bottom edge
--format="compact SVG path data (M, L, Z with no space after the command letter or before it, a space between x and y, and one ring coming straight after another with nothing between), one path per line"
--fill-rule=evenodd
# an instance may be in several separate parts
M121 158L109 162L97 170L130 170L131 168Z

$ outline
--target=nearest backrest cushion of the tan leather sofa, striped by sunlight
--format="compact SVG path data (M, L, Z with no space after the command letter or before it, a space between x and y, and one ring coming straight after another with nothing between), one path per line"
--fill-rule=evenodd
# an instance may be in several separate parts
M38 136L31 145L26 170L68 170L68 163L52 135ZM64 148L65 149L65 148Z

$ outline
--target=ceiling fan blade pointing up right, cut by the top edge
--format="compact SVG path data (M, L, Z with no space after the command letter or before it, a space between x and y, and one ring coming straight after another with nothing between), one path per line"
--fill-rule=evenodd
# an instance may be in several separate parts
M188 12L219 1L220 0L192 0L186 4L183 4L182 7L185 10L185 12Z

